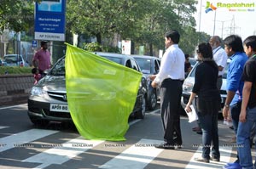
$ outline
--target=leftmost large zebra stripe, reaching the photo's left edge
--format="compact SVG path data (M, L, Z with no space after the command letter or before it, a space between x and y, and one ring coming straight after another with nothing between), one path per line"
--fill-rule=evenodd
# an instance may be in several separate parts
M15 148L21 144L26 144L32 142L33 140L44 138L51 134L54 134L59 131L53 130L42 130L42 129L31 129L26 132L15 133L14 135L0 138L0 152L3 152L7 149Z

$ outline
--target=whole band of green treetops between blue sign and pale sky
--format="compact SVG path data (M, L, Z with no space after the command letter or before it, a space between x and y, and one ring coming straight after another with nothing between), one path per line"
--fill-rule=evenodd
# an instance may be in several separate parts
M104 45L103 39L117 33L121 39L131 39L135 48L145 46L153 55L154 50L165 48L164 35L170 29L176 29L182 37L196 35L192 29L195 3L193 0L69 0L67 27L75 33L96 37L101 45ZM192 47L194 42L189 46L190 52L195 48ZM95 44L85 48L106 50Z

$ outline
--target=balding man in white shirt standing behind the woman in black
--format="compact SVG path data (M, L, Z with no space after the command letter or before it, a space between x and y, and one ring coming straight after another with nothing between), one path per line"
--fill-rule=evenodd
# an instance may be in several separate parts
M222 86L222 76L224 75L224 68L227 65L227 59L228 56L224 51L224 48L221 48L221 40L218 36L211 37L209 41L211 47L212 47L212 54L213 59L218 65L218 81L217 81L217 87L218 89Z

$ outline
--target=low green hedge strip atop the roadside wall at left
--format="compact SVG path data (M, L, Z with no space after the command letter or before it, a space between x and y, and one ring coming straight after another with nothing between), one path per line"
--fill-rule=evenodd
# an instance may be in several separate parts
M32 67L0 66L0 75L32 74Z

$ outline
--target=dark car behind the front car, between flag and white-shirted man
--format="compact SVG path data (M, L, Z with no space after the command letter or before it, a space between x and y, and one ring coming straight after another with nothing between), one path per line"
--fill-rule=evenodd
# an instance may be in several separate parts
M159 72L160 58L146 55L132 55L132 57L137 60L137 64L140 65L140 68L143 71L143 75L147 77L147 107L148 110L154 110L157 104L157 100L160 99L160 90L159 88L153 88L151 86L151 80L149 79L149 76L155 75Z

